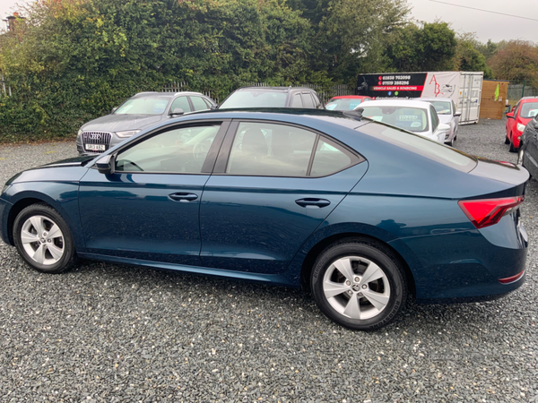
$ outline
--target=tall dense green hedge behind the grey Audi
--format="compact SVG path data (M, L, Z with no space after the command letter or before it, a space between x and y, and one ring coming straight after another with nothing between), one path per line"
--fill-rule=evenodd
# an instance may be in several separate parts
M184 80L224 97L308 76L310 25L280 0L44 0L2 35L0 141L70 136L141 90Z

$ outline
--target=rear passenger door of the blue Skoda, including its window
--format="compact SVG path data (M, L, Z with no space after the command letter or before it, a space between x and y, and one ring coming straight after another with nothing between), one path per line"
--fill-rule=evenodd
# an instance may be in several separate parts
M235 121L204 187L204 266L280 273L367 163L337 141L293 124Z

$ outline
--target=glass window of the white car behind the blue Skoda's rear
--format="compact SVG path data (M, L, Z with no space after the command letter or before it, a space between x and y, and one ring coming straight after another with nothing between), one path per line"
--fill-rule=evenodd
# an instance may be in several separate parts
M421 107L370 107L367 103L361 108L364 117L410 132L427 132L429 128L427 109Z

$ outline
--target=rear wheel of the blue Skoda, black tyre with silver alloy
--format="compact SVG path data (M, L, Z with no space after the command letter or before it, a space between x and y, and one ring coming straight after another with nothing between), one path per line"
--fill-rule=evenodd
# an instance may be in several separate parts
M407 298L404 270L383 244L346 240L314 263L310 285L319 309L352 330L377 330L392 322Z

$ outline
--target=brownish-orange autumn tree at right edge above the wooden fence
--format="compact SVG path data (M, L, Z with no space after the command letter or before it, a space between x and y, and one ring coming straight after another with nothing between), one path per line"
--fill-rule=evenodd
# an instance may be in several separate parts
M538 45L525 40L511 40L488 60L500 80L527 81L538 88Z

